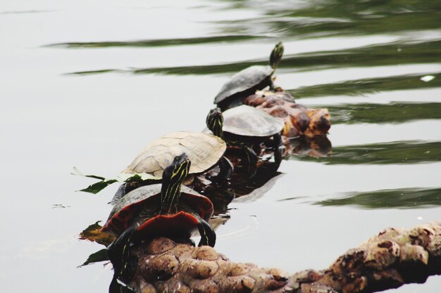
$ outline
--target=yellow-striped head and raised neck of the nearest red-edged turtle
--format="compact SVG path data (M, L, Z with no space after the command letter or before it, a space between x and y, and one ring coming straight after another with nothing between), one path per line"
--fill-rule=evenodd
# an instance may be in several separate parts
M161 214L170 214L176 211L180 197L180 185L190 171L190 159L185 152L173 158L162 174Z

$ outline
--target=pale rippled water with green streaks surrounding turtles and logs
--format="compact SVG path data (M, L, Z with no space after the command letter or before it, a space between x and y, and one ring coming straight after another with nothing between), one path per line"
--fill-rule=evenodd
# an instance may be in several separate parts
M216 249L320 269L382 228L440 221L441 1L9 1L4 292L106 292L111 266L77 268L102 246L77 235L107 219L117 186L77 193L94 181L70 175L73 166L111 177L155 138L201 131L222 84L266 64L278 41L276 83L328 108L332 152L288 156L282 174L229 204ZM391 292L440 287L433 277Z

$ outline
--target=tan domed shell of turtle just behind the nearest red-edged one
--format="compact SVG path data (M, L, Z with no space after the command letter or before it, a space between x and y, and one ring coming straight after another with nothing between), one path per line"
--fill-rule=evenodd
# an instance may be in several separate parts
M189 174L198 174L211 169L226 148L225 141L211 134L173 132L147 145L123 173L148 173L161 178L173 158L185 152L192 161Z

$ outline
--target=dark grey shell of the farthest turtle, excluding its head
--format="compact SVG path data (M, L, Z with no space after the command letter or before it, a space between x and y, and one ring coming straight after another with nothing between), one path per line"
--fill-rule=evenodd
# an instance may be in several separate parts
M234 74L231 79L223 84L214 103L219 104L232 96L247 96L258 89L263 89L271 84L273 68L269 65L254 65Z

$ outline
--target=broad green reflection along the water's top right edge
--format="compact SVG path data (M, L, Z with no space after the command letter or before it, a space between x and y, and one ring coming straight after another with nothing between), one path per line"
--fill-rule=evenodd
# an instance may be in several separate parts
M227 1L230 2L230 1ZM439 1L279 1L275 5L232 1L230 8L259 8L261 18L218 22L223 32L256 30L280 37L385 34L440 28ZM261 1L262 2L262 1ZM240 3L237 6L237 3Z

